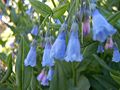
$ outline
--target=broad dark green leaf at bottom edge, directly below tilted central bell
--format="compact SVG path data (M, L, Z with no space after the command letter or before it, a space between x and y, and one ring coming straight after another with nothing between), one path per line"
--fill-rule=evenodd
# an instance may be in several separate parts
M50 90L67 90L67 77L63 72L63 66L56 62L53 80L50 83Z

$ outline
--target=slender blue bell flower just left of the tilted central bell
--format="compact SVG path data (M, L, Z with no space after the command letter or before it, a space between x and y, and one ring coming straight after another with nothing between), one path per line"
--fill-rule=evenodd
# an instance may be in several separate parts
M54 59L50 57L50 50L51 50L51 42L50 39L46 40L46 45L43 53L42 58L42 66L53 66L54 65Z

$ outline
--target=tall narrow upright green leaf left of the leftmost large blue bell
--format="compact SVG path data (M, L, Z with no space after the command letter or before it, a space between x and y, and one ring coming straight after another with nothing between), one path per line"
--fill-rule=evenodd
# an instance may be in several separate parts
M28 44L24 40L24 37L21 36L18 55L16 59L16 84L17 84L18 90L24 90L24 88L26 88L26 85L28 86L28 83L30 83L29 80L31 80L30 69L27 69L28 71L24 69L24 59L26 58L27 53L28 53ZM24 70L25 70L25 73L24 73ZM26 80L27 82L24 80Z

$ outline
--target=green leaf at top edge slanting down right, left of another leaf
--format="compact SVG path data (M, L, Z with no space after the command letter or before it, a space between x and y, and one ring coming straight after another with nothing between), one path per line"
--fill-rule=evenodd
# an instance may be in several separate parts
M47 16L47 15L51 15L52 14L52 10L51 8L44 4L43 2L40 2L38 0L29 0L32 7L38 12L40 13L42 16Z

